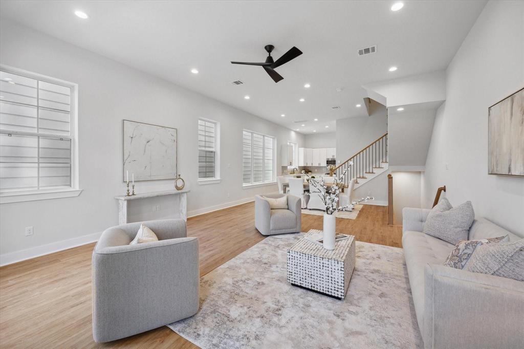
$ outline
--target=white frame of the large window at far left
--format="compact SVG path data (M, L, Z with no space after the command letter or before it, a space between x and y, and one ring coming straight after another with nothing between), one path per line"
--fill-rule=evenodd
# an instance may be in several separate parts
M52 78L47 75L42 75L35 72L30 72L27 70L6 66L0 64L0 70L20 75L21 77L35 79L38 81L48 82L56 85L61 85L71 89L70 95L70 135L61 136L64 139L71 140L71 187L70 188L60 188L60 189L38 189L38 190L19 190L19 191L9 191L0 193L0 204L13 203L13 202L24 202L24 201L35 201L35 200L46 200L46 199L58 199L58 198L71 198L78 197L82 192L82 189L79 187L79 152L78 152L78 84ZM45 133L30 133L22 131L11 131L11 130L2 130L3 134L12 134L19 136L31 136L31 137L45 137L52 136L57 138L59 135L55 134L45 134ZM38 150L40 151L40 150Z

